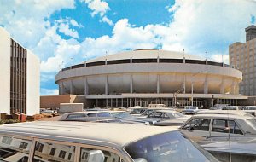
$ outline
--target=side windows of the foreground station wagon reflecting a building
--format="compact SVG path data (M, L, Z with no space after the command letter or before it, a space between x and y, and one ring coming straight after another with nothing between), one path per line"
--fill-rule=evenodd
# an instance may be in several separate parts
M32 141L13 136L0 136L0 161L27 162ZM73 162L75 160L75 146L68 146L54 142L36 142L33 152L33 162ZM80 148L80 162L88 162L92 148ZM104 162L121 162L116 154L102 150Z

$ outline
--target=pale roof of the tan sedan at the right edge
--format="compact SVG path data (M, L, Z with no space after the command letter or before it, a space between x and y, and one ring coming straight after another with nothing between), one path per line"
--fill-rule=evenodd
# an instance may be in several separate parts
M243 116L237 114L229 114L229 113L206 113L206 114L195 114L191 118L230 118L230 119L254 119L252 115L250 116Z

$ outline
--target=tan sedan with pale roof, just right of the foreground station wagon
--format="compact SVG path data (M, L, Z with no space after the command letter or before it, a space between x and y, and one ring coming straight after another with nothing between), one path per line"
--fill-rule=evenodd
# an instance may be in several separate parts
M213 138L256 136L256 119L237 114L195 114L180 129L195 142L207 142Z

